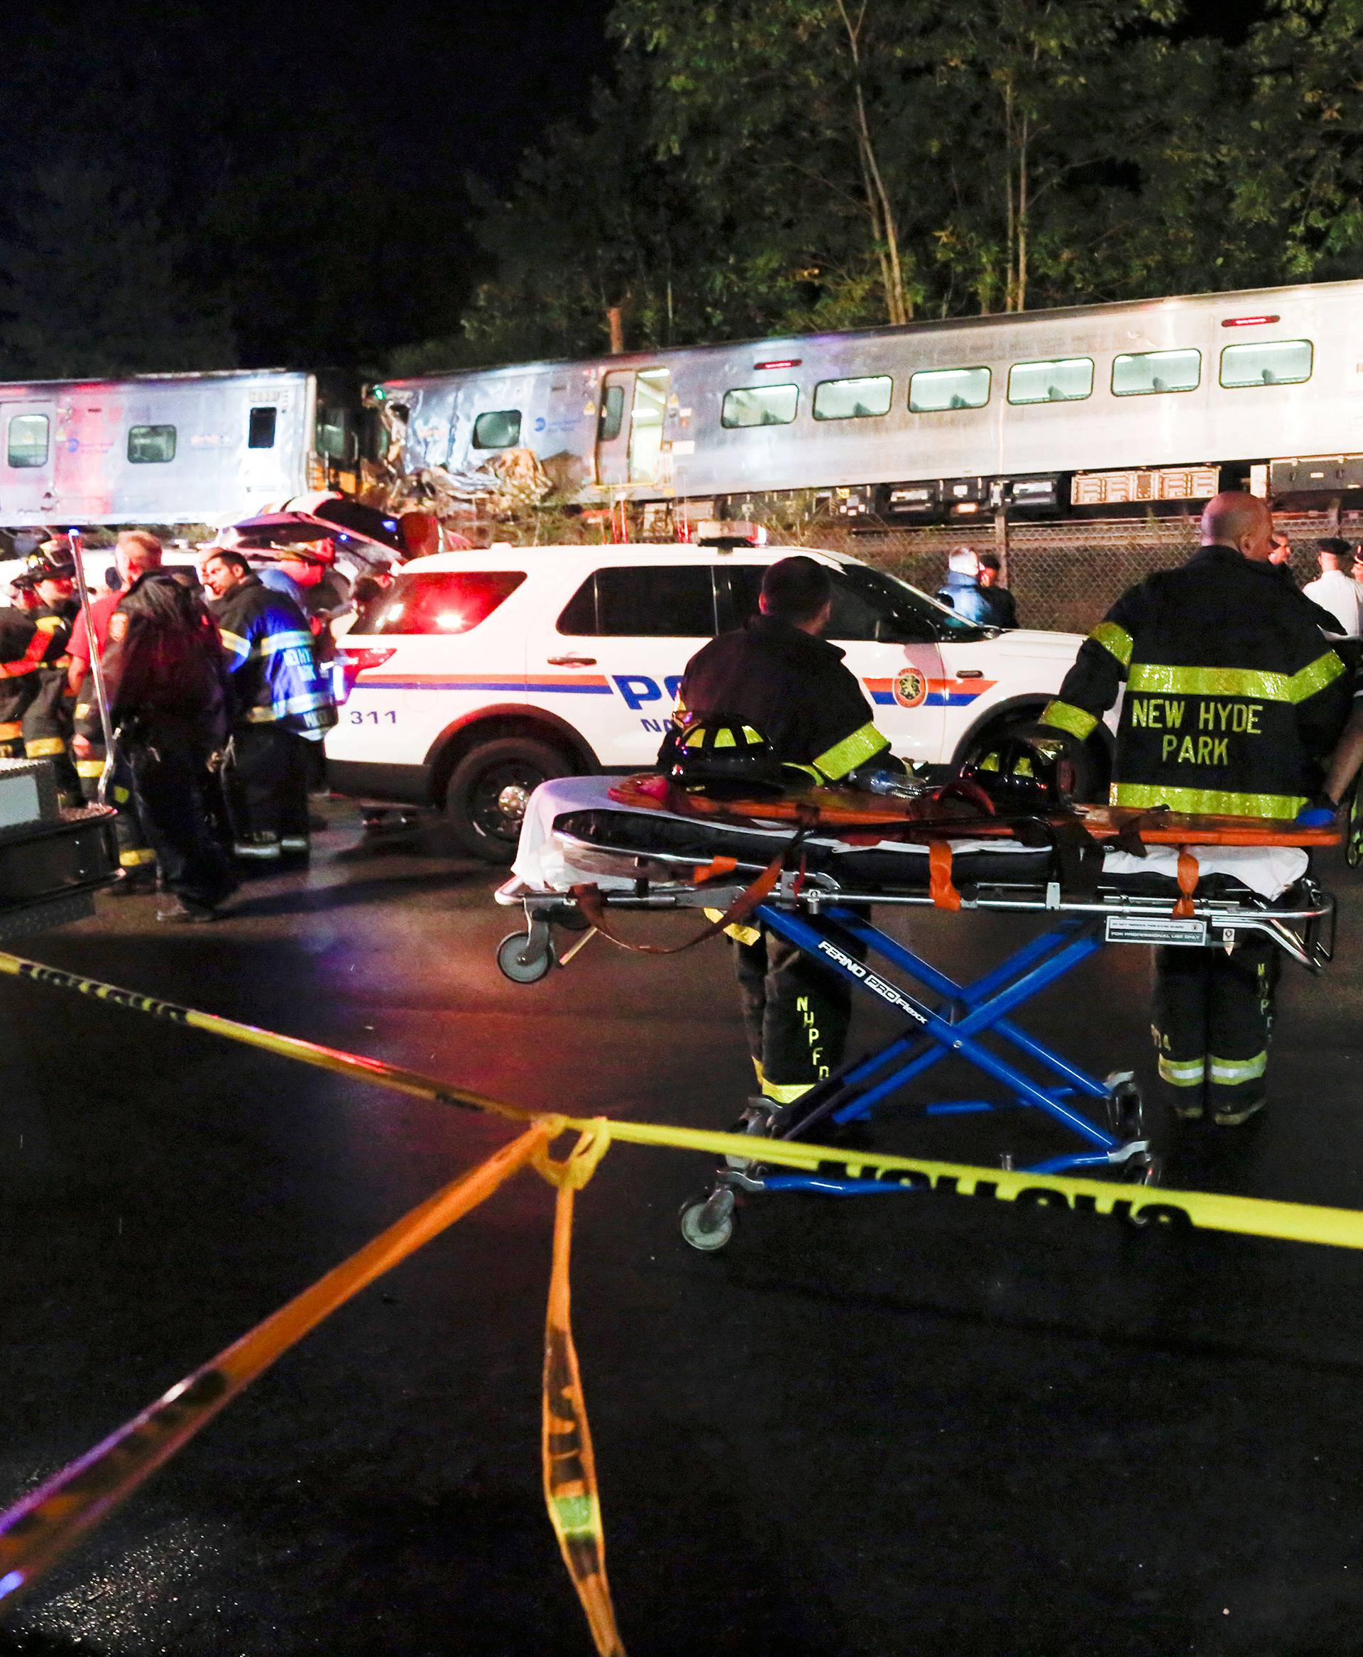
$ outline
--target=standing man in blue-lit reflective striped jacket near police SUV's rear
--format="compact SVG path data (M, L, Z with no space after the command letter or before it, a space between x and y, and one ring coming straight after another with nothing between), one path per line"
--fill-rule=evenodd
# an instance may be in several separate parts
M210 548L204 585L232 673L224 767L232 850L253 862L305 862L313 744L336 722L308 618L272 592L240 552Z

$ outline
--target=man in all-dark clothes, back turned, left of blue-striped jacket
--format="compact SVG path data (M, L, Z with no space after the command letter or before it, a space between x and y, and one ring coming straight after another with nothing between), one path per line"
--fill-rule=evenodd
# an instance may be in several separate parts
M235 890L210 820L210 762L227 742L222 641L202 598L171 570L151 568L109 616L104 684L134 805L171 900L157 920L210 921ZM76 719L75 751L101 741L98 709Z

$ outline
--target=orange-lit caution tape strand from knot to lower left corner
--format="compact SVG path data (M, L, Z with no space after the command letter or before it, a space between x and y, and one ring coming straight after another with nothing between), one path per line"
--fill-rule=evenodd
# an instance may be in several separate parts
M512 1140L383 1231L103 1443L0 1514L0 1606L8 1609L113 1508L275 1359L399 1261L490 1196L555 1135L551 1117Z

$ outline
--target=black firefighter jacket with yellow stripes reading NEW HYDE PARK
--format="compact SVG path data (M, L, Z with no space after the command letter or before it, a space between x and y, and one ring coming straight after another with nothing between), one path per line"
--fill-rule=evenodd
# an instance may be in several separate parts
M1348 673L1300 593L1234 547L1123 593L1042 722L1085 741L1123 681L1113 805L1295 817L1348 714Z

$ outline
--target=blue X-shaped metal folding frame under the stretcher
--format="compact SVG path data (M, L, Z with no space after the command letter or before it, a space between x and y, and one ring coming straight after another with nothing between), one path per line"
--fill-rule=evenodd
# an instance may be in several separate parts
M763 903L754 915L777 936L795 944L812 959L838 973L855 988L874 996L881 1004L906 1014L906 1031L861 1059L843 1064L833 1075L816 1084L788 1112L782 1114L777 1138L805 1138L818 1123L860 1122L909 1082L942 1059L966 1059L984 1075L999 1082L1010 1095L1005 1104L962 1100L929 1104L926 1115L957 1115L1009 1109L1043 1112L1073 1133L1083 1150L1047 1157L1028 1163L1033 1173L1073 1173L1078 1170L1111 1170L1148 1160L1148 1142L1121 1138L1100 1127L1075 1104L1080 1095L1111 1110L1113 1082L1100 1082L1086 1070L1017 1026L1010 1014L1033 996L1058 983L1076 966L1105 948L1101 920L1090 915L1067 915L1053 928L1030 938L1005 961L970 984L957 984L946 973L914 954L888 933L873 926L863 913L841 905L825 905L818 916ZM876 966L881 956L913 983L941 998L932 1007L919 996L894 983ZM1033 1064L1048 1070L1052 1085L1033 1080L1007 1057L984 1046L980 1037L992 1032ZM760 1160L760 1152L755 1152ZM825 1191L860 1196L871 1191L903 1190L876 1180L835 1180L808 1173L767 1173L754 1170L742 1180L747 1190Z

